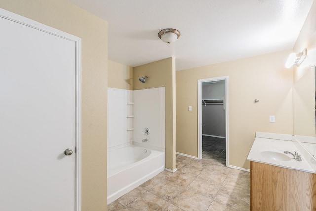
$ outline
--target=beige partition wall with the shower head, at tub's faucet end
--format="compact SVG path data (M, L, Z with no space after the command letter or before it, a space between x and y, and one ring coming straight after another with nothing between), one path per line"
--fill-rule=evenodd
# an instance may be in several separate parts
M138 78L148 75L146 83ZM134 67L134 90L151 87L166 88L166 168L175 169L175 58L167 58L157 62Z

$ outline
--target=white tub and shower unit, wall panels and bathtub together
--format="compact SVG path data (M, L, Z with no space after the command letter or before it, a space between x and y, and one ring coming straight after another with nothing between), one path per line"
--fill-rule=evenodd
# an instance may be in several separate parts
M165 88L108 88L107 203L164 169Z

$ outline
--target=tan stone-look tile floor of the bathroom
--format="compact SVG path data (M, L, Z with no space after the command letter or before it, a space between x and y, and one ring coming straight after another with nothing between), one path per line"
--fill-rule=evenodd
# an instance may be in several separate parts
M161 172L108 211L249 211L250 174L226 167L222 153L203 147L202 160L176 155L177 172Z

